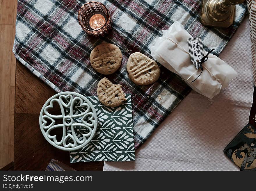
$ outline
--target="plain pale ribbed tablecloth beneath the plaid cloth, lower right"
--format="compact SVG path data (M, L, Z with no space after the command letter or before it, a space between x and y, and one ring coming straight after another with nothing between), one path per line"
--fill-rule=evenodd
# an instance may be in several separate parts
M149 140L136 160L106 163L104 170L239 170L223 149L248 123L253 101L248 17L220 58L238 76L214 99L192 91Z

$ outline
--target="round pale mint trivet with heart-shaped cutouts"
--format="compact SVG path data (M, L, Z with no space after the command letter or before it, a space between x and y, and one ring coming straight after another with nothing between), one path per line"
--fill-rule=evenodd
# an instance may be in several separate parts
M58 103L61 115L52 115L48 109ZM56 124L56 119L62 121ZM75 92L61 92L48 99L39 116L40 129L45 139L54 147L64 151L74 151L88 144L97 130L97 113L92 103ZM62 128L62 138L50 135L56 128Z

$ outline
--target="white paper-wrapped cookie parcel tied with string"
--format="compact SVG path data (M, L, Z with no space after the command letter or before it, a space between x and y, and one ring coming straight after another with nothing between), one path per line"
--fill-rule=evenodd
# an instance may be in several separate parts
M209 54L208 60L202 64L202 74L195 80L201 69L196 69L191 62L188 38L193 37L182 24L175 21L168 30L163 31L162 37L156 39L150 48L151 55L164 67L178 74L193 90L212 99L221 88L228 86L237 72L217 56Z

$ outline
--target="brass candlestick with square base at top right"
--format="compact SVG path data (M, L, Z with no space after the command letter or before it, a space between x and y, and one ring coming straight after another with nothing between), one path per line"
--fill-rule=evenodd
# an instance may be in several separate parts
M235 5L244 0L203 0L200 22L204 26L227 28L234 22Z

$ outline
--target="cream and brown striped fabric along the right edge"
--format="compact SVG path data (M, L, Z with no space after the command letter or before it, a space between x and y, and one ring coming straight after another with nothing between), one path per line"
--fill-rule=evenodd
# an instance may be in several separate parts
M247 0L249 20L250 20L250 38L252 43L252 67L253 79L256 85L256 2Z

